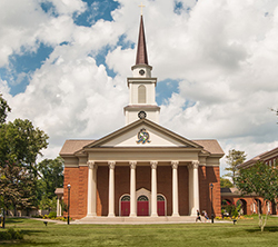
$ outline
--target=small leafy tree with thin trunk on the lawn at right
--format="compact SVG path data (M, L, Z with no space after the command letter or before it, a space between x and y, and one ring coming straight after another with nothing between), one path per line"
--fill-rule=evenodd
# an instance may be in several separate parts
M235 181L242 196L255 194L258 197L262 197L264 202L276 202L277 200L278 169L276 167L268 166L265 162L258 161L251 167L241 169L238 172ZM258 210L258 215L259 227L261 228L261 231L264 231L264 228L267 224L268 211L265 219L261 216L260 210Z

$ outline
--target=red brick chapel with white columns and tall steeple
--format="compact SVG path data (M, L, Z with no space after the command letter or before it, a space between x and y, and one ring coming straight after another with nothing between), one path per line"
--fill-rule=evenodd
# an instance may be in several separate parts
M131 70L126 126L98 140L66 140L60 151L66 204L71 186L70 217L159 219L196 216L197 210L210 216L211 206L220 216L224 151L217 140L189 140L159 125L142 16Z

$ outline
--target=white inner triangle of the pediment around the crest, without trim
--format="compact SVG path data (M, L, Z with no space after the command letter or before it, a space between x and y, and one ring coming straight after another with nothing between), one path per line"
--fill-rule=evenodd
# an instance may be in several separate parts
M140 138L139 134L147 138ZM119 136L108 140L100 147L185 147L185 142L152 128L146 124L138 125Z

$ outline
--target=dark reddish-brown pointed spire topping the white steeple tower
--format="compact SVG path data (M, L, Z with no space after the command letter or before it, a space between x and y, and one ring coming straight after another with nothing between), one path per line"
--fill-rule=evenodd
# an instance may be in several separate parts
M146 46L146 40L145 40L142 14L141 14L141 22L140 22L140 28L139 28L136 65L149 65L148 55L147 55L147 46Z

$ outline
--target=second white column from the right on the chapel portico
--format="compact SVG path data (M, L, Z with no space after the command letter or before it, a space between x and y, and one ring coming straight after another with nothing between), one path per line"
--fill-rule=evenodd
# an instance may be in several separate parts
M178 166L179 161L171 161L172 166L172 217L179 216Z

